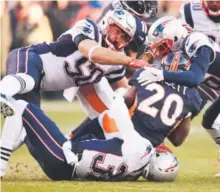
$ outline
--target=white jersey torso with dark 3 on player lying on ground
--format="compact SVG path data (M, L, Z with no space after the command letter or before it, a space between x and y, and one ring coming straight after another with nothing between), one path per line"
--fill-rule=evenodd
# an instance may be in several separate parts
M75 177L86 180L136 180L144 168L128 173L123 157L110 153L84 150L82 159L75 165Z

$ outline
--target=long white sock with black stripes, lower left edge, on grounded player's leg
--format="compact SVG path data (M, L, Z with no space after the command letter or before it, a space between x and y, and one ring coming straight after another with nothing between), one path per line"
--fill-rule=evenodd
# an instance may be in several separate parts
M25 101L16 101L11 99L12 104L16 108L15 115L7 117L2 130L2 139L1 139L1 177L6 173L7 163L11 156L11 152L14 149L17 141L21 137L23 124L22 124L22 113L27 105Z

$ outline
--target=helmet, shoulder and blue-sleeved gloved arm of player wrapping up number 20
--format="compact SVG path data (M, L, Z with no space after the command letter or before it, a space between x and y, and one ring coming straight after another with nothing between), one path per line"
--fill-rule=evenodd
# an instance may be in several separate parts
M147 85L157 81L167 81L188 87L198 86L215 60L216 52L208 36L200 32L188 33L182 22L175 17L165 16L152 24L149 33L149 52L160 59L169 52L183 51L189 57L191 65L188 71L163 71L146 68L138 81ZM149 70L148 70L149 69Z

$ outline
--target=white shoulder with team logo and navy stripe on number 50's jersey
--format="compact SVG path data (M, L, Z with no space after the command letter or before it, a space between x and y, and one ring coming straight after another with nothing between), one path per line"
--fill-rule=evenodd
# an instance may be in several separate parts
M75 37L78 35L85 35L90 39L98 41L99 30L97 25L90 19L82 19L76 22L76 24L64 33L72 35L74 41Z

